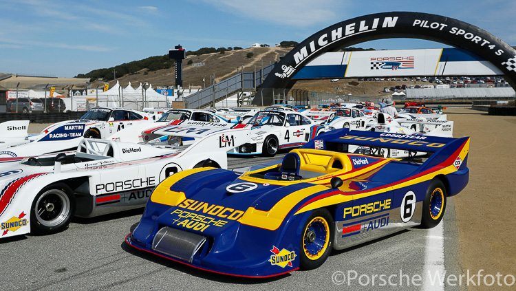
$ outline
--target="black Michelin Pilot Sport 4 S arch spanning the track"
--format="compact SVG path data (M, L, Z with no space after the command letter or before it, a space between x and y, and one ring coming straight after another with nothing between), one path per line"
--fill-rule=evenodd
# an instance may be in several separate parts
M252 103L272 104L274 89L288 91L296 82L295 74L325 52L335 52L365 41L393 38L426 39L469 50L500 69L508 83L516 88L516 50L493 34L436 14L384 12L342 21L312 34L277 63Z

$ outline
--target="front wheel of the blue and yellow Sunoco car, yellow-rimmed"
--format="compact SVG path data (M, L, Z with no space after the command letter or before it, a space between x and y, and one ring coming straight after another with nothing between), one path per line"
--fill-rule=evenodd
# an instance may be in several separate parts
M299 249L300 266L305 270L319 268L333 249L335 226L330 211L317 209L303 226Z

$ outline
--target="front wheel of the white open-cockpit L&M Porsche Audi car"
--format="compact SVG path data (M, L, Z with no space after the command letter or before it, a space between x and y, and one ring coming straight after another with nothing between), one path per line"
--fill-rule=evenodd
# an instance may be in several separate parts
M63 183L46 186L32 202L30 227L39 235L51 235L65 230L75 214L72 189Z

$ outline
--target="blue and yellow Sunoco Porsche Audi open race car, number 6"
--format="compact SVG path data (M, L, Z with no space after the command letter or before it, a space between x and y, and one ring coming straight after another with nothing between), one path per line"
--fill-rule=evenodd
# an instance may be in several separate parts
M347 153L350 145L427 151L422 161ZM202 168L161 182L131 246L194 268L270 277L321 266L341 250L440 223L469 180L469 138L336 129L281 163Z

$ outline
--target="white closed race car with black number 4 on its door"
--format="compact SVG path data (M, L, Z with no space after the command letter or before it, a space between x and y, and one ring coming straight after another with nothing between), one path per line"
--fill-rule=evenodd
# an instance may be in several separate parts
M252 125L250 142L228 153L272 157L278 149L301 147L323 128L304 114L283 110L259 111L246 124Z

